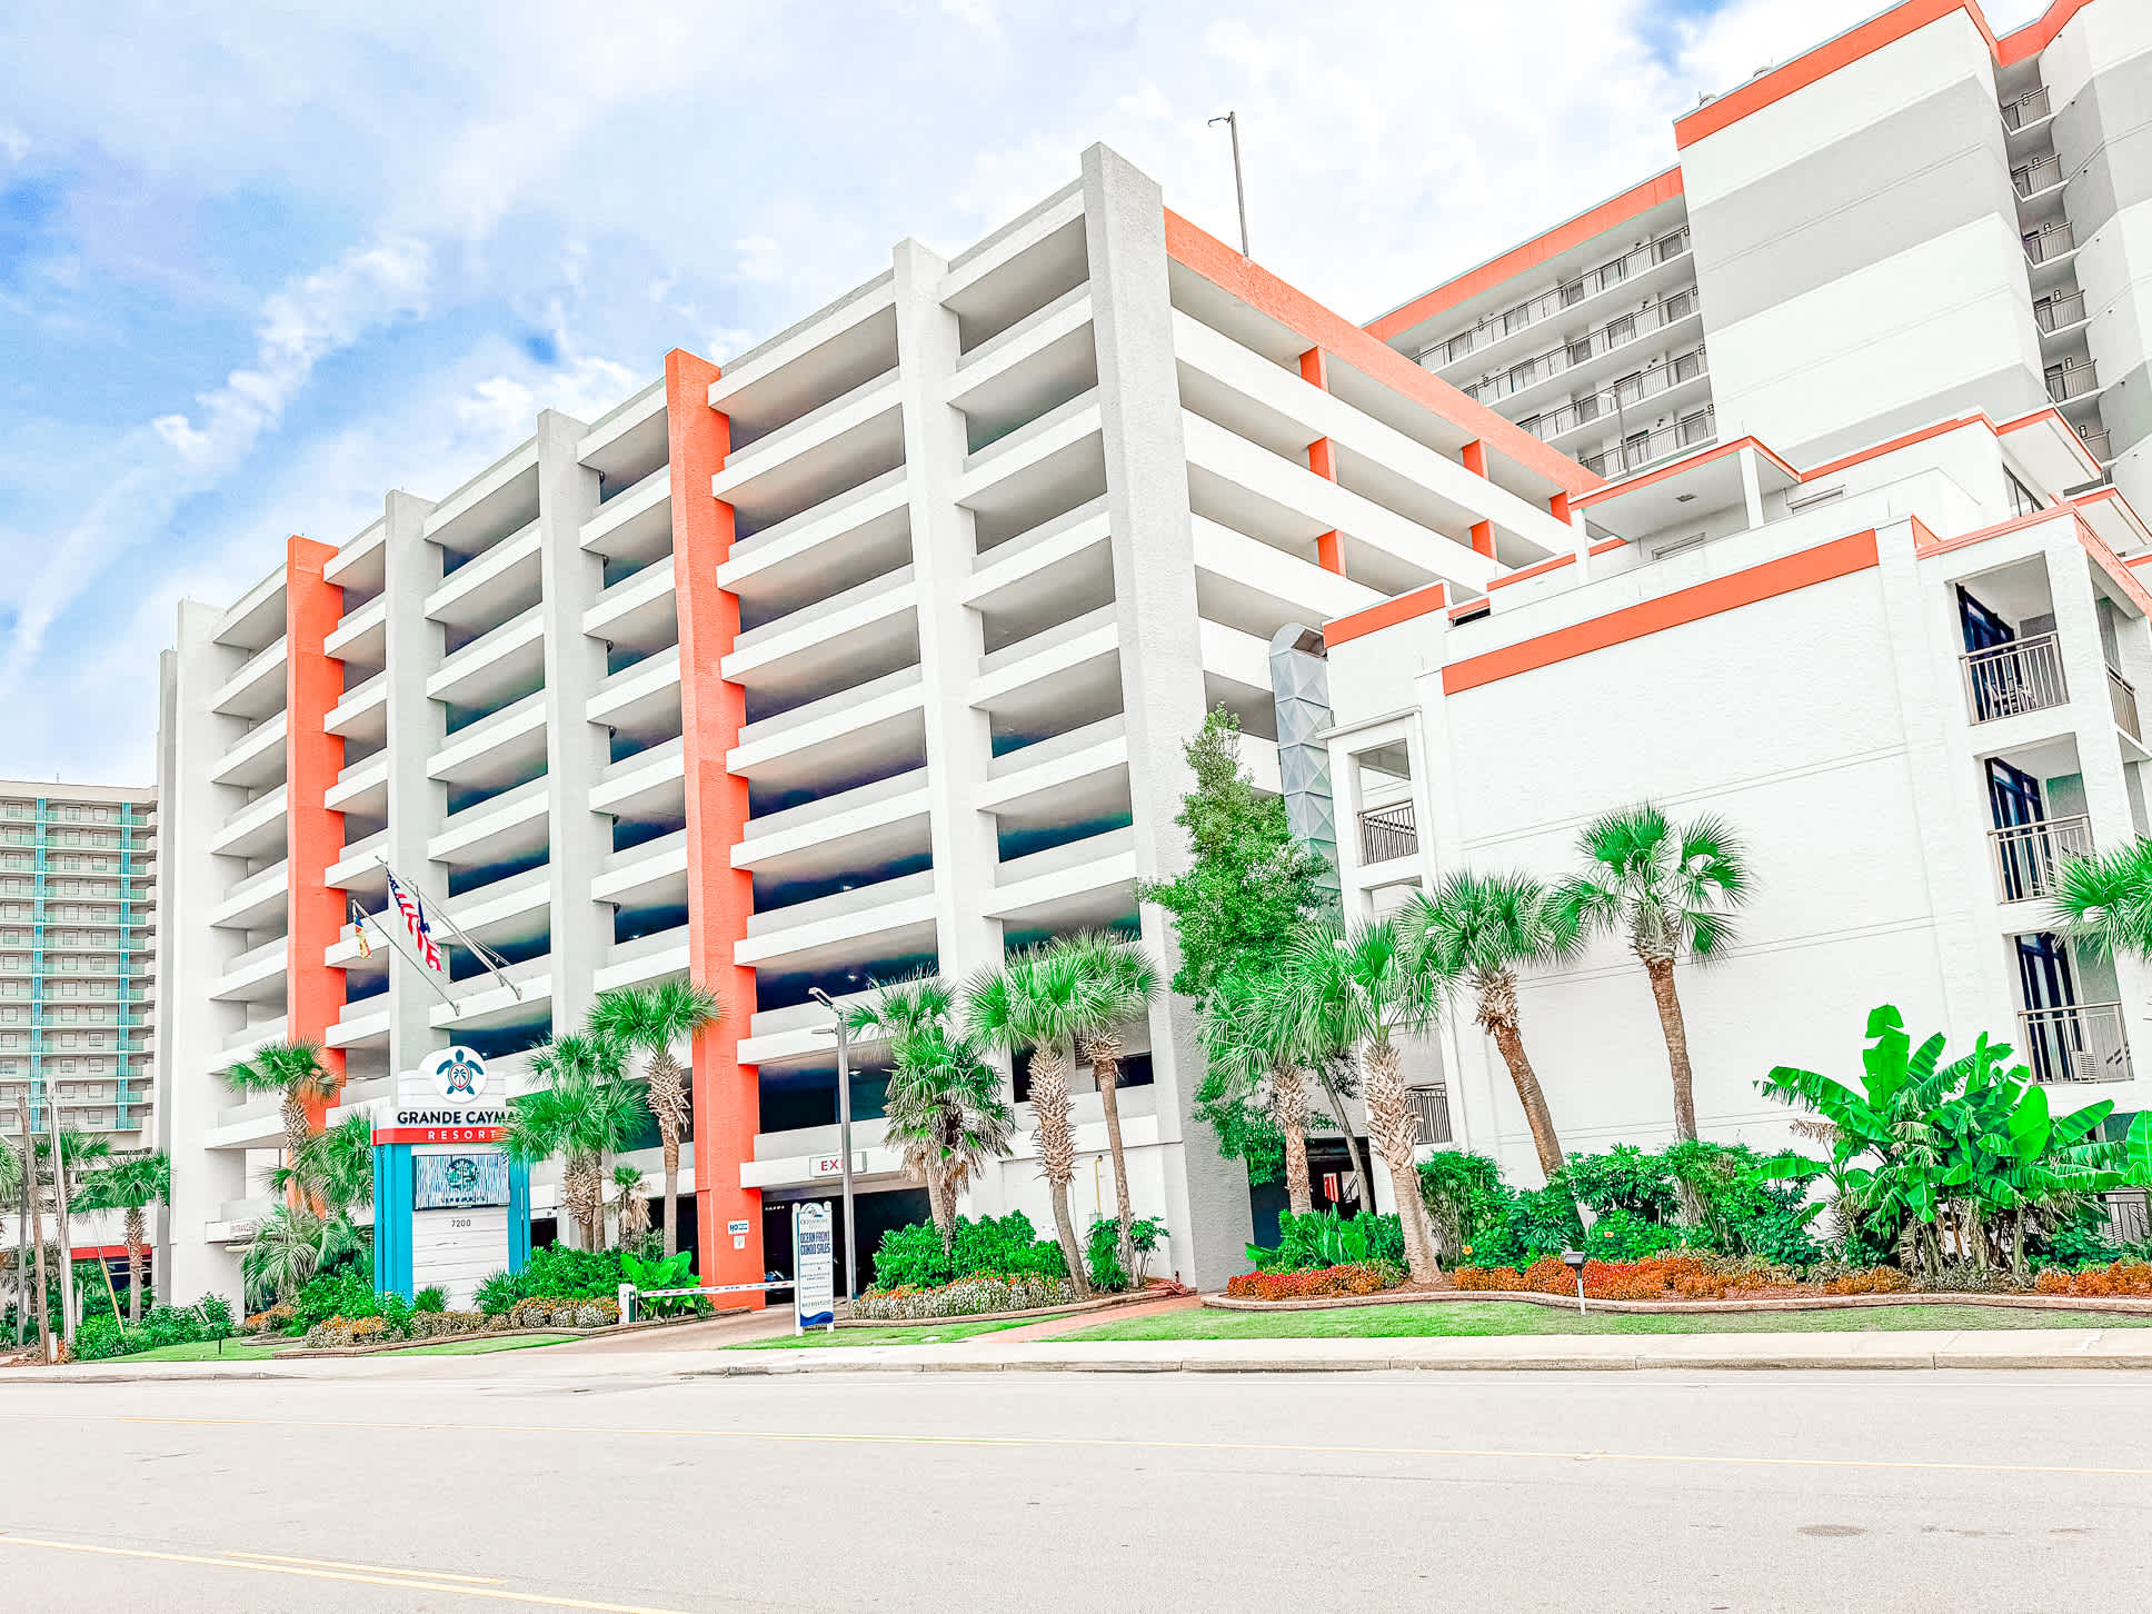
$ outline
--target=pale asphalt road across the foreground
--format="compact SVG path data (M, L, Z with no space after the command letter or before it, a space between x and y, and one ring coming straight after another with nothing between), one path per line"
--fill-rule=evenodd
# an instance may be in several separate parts
M6 1610L2146 1610L2152 1375L0 1386Z

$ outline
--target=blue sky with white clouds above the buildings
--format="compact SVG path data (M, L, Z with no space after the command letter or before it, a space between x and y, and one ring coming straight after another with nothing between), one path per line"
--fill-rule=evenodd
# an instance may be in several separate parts
M753 344L900 237L960 250L1093 140L1231 237L1235 108L1257 258L1371 318L1877 4L11 6L0 777L151 779L179 598L669 346Z

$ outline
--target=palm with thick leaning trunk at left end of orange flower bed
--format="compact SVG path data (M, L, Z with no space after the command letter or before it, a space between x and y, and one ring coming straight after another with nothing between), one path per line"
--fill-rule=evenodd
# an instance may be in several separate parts
M1414 971L1390 921L1354 930L1332 919L1304 921L1287 940L1285 975L1289 986L1280 996L1296 1005L1302 1046L1358 1050L1367 1074L1367 1130L1390 1169L1397 1220L1405 1233L1405 1263L1414 1283L1433 1283L1442 1276L1442 1265L1414 1160L1420 1117L1405 1098L1392 1033L1429 1029L1442 1007L1440 988Z

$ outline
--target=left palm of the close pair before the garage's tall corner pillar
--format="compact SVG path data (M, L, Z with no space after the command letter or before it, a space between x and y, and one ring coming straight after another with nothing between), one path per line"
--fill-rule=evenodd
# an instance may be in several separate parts
M1054 1233L1078 1298L1091 1296L1082 1244L1070 1218L1076 1179L1076 1130L1070 1115L1070 1048L1095 1022L1095 966L1070 947L1027 947L1003 966L983 968L964 988L964 1014L979 1042L1031 1050L1031 1113L1037 1119L1039 1173L1054 1205Z

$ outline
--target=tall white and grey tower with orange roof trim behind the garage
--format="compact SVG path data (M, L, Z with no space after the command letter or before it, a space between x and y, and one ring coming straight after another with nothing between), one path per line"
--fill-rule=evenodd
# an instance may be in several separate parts
M1788 41L1790 43L1790 41ZM2053 402L2152 508L2152 6L1905 0L1707 97L1676 164L1369 329L1588 469L1825 461Z

